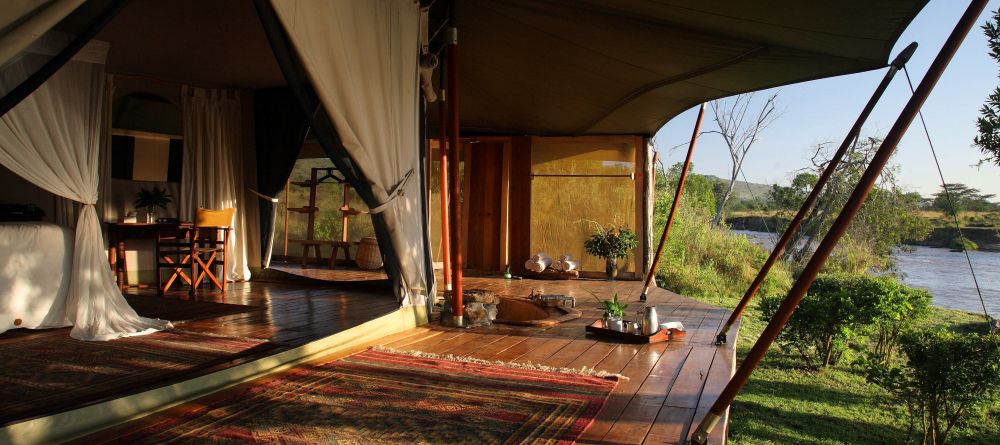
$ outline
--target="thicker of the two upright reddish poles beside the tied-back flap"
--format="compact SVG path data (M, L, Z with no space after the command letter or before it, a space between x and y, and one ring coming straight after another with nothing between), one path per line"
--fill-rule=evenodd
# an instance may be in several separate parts
M455 5L452 4L451 13L454 14ZM451 180L451 324L463 326L462 315L464 307L462 304L462 185L459 164L459 116L458 116L458 28L455 27L454 17L452 17L451 27L446 31L445 40L448 45L448 111L451 116L448 129L448 149L451 157L450 180Z

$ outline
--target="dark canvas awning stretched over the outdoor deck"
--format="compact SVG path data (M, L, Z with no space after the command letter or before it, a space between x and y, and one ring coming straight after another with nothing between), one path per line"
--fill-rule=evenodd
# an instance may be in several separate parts
M651 135L707 100L883 67L925 3L458 1L462 127Z

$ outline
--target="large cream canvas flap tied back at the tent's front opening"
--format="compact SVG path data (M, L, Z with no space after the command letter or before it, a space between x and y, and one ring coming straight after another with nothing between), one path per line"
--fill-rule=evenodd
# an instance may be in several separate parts
M384 203L405 303L427 282L420 202L420 7L413 0L272 0L344 147ZM373 209L373 212L378 209Z

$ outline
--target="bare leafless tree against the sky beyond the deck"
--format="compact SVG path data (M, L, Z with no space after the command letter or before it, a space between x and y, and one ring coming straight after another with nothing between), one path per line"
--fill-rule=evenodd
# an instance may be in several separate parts
M726 184L724 192L717 199L715 218L712 219L714 225L719 225L722 221L726 201L733 194L733 186L736 185L736 179L743 168L743 161L746 159L747 153L757 142L760 133L780 117L780 113L776 109L778 93L769 96L756 111L753 110L755 106L753 98L754 93L749 93L712 102L713 119L719 130L707 131L706 133L718 133L722 136L732 161L729 183Z

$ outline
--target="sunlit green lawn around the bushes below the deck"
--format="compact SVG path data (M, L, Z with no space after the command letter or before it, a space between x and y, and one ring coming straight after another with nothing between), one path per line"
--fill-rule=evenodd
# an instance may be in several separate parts
M694 297L732 308L738 297ZM752 304L743 317L737 343L742 360L766 323ZM984 329L982 315L932 308L922 327L958 331ZM851 360L820 372L806 371L801 360L771 347L730 411L730 443L743 444L903 444L907 415L888 394L868 384ZM1000 406L970 419L949 437L955 444L1000 443ZM912 436L911 436L912 437Z

